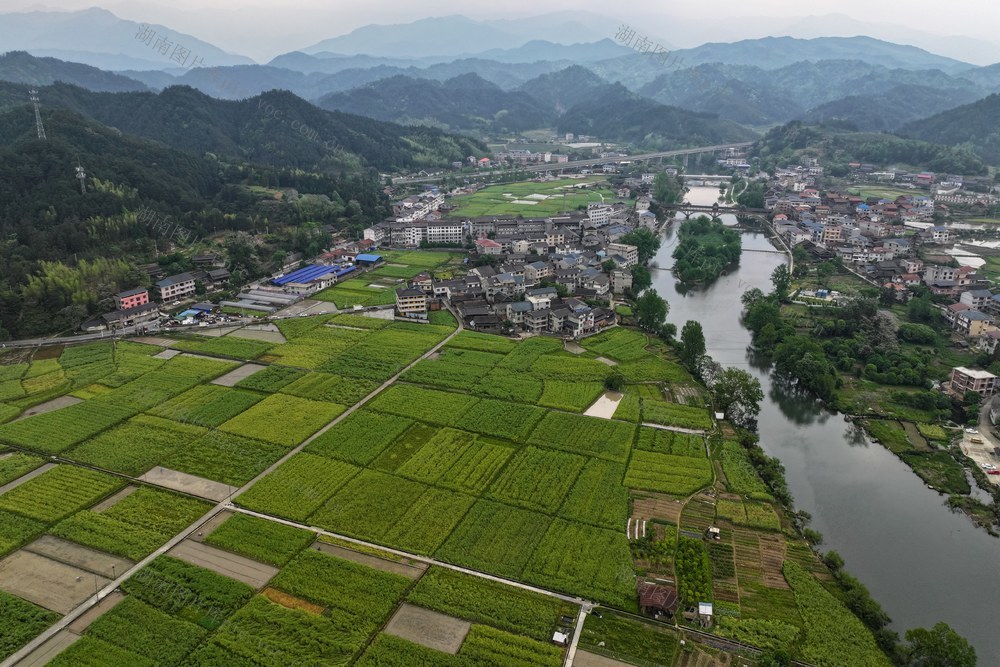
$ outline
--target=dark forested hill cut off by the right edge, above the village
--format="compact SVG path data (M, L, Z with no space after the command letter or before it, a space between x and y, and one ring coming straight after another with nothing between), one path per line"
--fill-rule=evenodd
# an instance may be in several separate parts
M1000 165L1000 95L943 111L903 126L914 139L967 146L990 164Z

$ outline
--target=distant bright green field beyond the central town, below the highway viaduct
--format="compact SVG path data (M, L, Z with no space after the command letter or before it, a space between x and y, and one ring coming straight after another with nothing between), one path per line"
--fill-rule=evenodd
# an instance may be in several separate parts
M475 194L456 197L453 200L455 216L475 217L481 215L523 215L525 217L545 217L563 211L575 211L591 202L615 199L615 193L600 176L588 178L564 178L546 183L524 181L504 183L483 188ZM576 187L586 185L587 187Z

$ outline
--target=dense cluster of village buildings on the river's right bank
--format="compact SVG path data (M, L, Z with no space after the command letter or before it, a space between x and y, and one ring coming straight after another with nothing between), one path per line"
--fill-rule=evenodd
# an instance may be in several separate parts
M851 166L867 169L870 165ZM975 198L977 203L989 205L995 203L995 196L956 194L951 188L956 184L961 187L961 177L931 173L893 174L932 189L944 186L929 195L865 199L838 192L820 194L809 182L821 173L818 170L821 168L800 166L778 171L765 199L773 212L775 232L790 247L801 244L817 258L839 259L872 284L895 290L900 300L908 298L909 287L925 285L931 294L951 301L942 307L943 317L961 336L959 346L993 354L1000 344L1000 294L988 289L990 282L974 267L954 266L956 262L950 261L943 249L941 263L929 263L917 258L917 248L953 243L950 229L933 224L935 212L947 212L947 203ZM880 172L872 172L872 176L888 177ZM904 236L907 227L919 231ZM992 396L1000 392L1000 378L984 370L959 367L953 370L946 388L956 394L971 390Z

